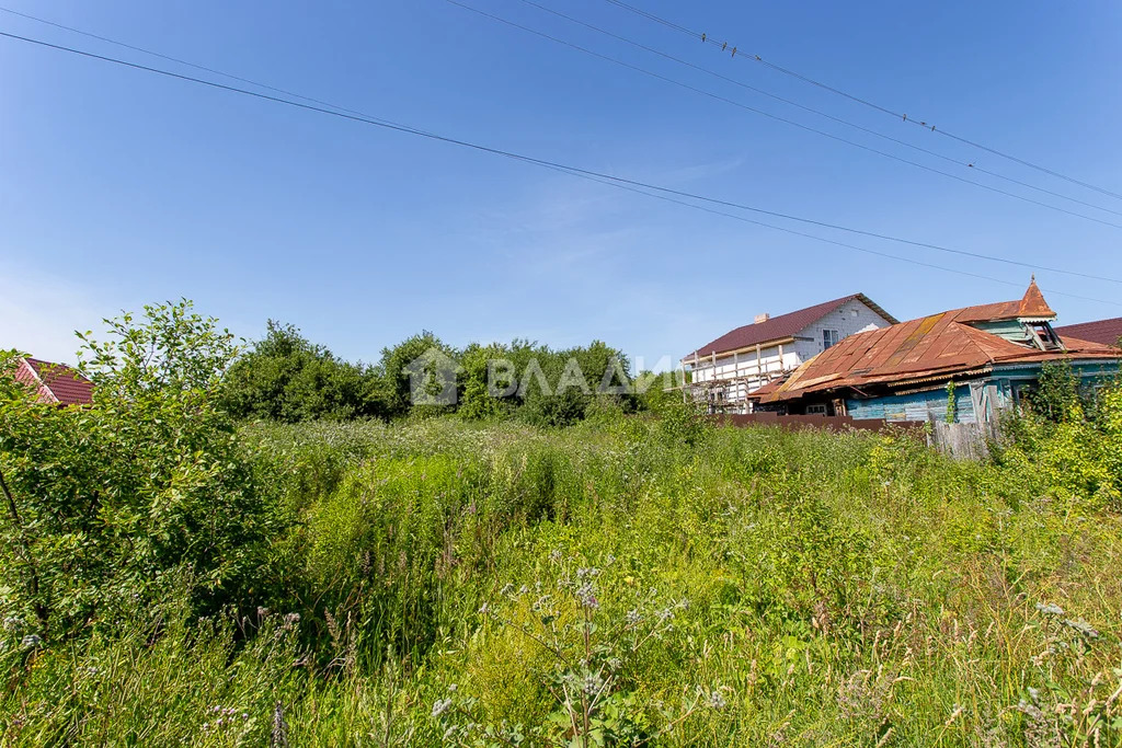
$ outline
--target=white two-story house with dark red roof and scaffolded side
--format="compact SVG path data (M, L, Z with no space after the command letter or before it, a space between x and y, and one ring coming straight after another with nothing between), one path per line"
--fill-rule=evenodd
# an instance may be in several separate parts
M690 390L712 412L748 413L747 395L854 333L888 327L896 318L864 294L776 317L756 315L682 358Z

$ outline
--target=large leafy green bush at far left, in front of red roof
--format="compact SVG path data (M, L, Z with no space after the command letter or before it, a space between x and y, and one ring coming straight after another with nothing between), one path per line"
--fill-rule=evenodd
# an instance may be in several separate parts
M259 565L264 512L233 424L215 406L237 349L190 302L81 335L93 405L38 403L0 358L0 612L55 638L158 601L186 573L193 600L237 599Z

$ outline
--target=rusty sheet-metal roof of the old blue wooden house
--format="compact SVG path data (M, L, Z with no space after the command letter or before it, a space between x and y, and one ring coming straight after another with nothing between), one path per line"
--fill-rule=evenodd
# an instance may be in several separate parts
M968 306L850 335L803 363L781 385L751 397L772 403L844 387L918 385L985 371L995 363L1119 358L1116 349L1075 338L1064 339L1066 350L1042 351L971 326L994 320L1040 320L1049 313L1055 314L1033 283L1020 302Z

